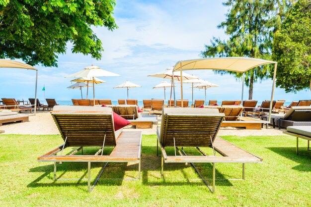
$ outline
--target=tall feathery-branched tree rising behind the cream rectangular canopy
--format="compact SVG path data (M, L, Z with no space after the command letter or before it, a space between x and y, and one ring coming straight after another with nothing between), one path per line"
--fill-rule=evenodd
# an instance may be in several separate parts
M271 59L274 32L288 13L293 0L227 0L223 4L230 9L226 21L218 25L224 28L228 40L215 38L205 45L203 57L242 56ZM245 73L245 84L249 86L249 99L252 99L253 83L269 78L269 66L261 66ZM215 71L232 74L236 79L241 73Z

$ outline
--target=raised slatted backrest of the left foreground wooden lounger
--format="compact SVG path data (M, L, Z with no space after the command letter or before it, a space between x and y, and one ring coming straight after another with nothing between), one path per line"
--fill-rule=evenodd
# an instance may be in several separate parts
M109 107L56 105L51 113L66 147L116 145Z

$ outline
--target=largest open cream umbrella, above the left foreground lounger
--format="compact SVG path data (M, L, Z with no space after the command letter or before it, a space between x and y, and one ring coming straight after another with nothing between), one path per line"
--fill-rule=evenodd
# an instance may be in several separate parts
M83 70L71 74L67 76L67 78L72 78L72 77L86 77L86 78L92 78L92 83L94 83L95 77L101 77L101 76L120 76L116 73L109 72L107 70L103 70L98 66L91 65L88 67L85 67ZM95 87L93 87L93 102L95 105Z

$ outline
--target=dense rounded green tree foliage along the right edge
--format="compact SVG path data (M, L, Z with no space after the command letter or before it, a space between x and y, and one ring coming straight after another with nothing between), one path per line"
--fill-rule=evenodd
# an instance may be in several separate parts
M299 0L275 33L276 85L286 92L311 86L311 0Z

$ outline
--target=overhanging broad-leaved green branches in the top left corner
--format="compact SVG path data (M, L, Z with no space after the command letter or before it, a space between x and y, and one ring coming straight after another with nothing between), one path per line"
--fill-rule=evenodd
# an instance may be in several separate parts
M91 26L114 30L114 0L0 0L0 58L57 66L59 54L91 54L100 59L102 43Z

